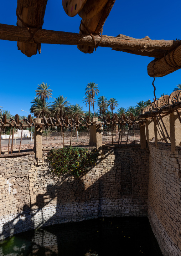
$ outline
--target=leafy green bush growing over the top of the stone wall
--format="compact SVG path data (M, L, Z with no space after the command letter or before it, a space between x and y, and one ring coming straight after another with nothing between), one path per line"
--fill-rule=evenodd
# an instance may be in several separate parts
M54 174L67 173L79 177L96 164L98 155L97 149L89 152L86 148L67 147L50 150L47 160L50 162L51 171Z

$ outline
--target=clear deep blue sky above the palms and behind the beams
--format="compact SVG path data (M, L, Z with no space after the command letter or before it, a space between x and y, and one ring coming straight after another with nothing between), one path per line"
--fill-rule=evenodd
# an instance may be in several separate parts
M16 25L16 5L15 0L1 1L0 23ZM180 7L179 0L116 0L103 27L103 35L181 39ZM79 32L80 21L78 15L66 15L61 0L48 0L43 29ZM0 40L0 56L0 106L13 115L22 115L20 109L29 112L37 85L42 82L50 85L53 97L63 94L71 104L79 103L84 110L88 109L82 101L88 82L98 83L98 97L116 98L118 108L154 98L153 79L147 74L151 57L104 47L84 54L77 46L42 44L41 54L29 58L17 50L16 42L5 40ZM180 75L181 70L178 70L156 78L156 97L161 93L170 94L181 83Z

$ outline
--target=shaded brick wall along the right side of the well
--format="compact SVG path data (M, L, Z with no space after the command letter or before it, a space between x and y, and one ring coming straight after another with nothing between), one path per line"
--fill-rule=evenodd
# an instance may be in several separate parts
M149 143L148 217L165 256L181 255L181 148Z

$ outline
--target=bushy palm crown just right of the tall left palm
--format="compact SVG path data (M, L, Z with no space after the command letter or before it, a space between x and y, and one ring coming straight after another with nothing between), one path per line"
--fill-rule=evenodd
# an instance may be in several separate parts
M51 108L53 114L56 116L57 114L60 118L63 118L66 111L69 109L69 101L66 101L67 97L64 98L63 95L60 95L58 98L54 98L55 101L52 102Z

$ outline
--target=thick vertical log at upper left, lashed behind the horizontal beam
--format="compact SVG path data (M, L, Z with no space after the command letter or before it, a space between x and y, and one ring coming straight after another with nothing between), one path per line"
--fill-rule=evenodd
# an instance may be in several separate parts
M17 26L42 28L47 0L17 0ZM29 38L31 34L29 34ZM28 41L28 40L27 40ZM41 43L17 42L18 50L27 57L41 52Z

